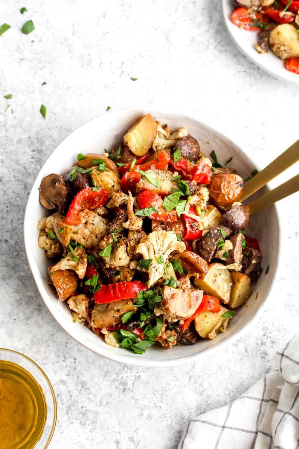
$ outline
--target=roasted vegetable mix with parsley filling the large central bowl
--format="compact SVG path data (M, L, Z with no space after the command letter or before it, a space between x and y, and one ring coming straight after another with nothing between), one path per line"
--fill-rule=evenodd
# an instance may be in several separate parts
M245 235L246 180L211 156L147 114L115 148L43 178L49 283L107 344L142 354L214 339L251 295L262 255Z

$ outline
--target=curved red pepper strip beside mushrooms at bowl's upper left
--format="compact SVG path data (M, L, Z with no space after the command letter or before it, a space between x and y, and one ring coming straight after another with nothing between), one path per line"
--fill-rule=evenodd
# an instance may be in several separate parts
M92 187L80 190L69 206L69 210L65 217L65 224L78 225L80 223L80 211L83 209L92 210L97 207L104 206L104 204L108 201L108 197L109 192L102 189L102 187L95 192L92 190Z

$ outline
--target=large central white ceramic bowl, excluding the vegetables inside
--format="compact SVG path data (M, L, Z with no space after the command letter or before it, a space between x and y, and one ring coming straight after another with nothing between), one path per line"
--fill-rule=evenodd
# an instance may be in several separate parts
M245 326L252 322L263 307L273 285L279 252L279 225L277 210L274 206L251 218L248 234L258 238L264 255L263 268L265 269L270 264L271 269L267 275L263 273L257 285L253 286L250 299L242 308L237 310L237 314L227 331L218 335L214 340L200 340L191 346L177 345L170 350L155 345L144 354L138 355L125 349L108 346L86 326L73 323L66 302L61 303L54 290L48 286L48 263L44 252L38 246L38 221L41 217L51 214L39 203L39 184L43 177L49 173L62 174L68 167L74 165L78 153L102 153L104 148L112 148L113 145L121 141L130 125L141 115L148 112L162 123L169 124L170 128L174 130L182 126L186 127L189 133L199 140L204 153L210 154L212 150L215 150L222 162L233 156L231 166L236 168L239 175L248 176L254 168L259 168L247 158L246 154L233 141L208 125L186 115L143 108L109 111L72 132L57 146L56 150L43 164L28 198L24 219L24 239L26 254L40 295L53 317L69 335L92 351L114 361L129 365L157 367L199 360L204 352L212 354L216 348L239 336Z

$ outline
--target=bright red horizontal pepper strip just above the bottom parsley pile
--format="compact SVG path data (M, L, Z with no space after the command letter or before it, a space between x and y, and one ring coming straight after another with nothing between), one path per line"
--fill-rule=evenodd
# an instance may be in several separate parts
M115 282L102 285L101 289L94 294L94 299L97 304L112 303L121 299L136 298L139 291L146 290L147 286L141 281Z

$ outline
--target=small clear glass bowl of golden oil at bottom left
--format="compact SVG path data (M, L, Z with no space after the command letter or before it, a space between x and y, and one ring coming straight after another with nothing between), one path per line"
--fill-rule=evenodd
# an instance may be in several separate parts
M45 449L56 426L57 405L43 370L20 352L0 348L0 447Z

